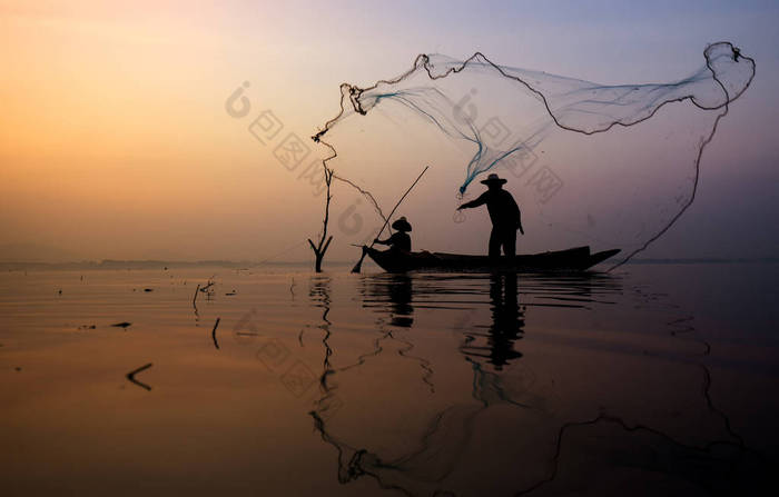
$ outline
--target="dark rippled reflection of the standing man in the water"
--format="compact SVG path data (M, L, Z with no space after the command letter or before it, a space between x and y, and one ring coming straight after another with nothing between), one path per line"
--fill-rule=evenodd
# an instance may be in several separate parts
M485 337L486 346L463 347L463 354L485 358L499 371L522 357L522 352L514 350L514 342L522 338L524 328L524 311L519 305L516 279L515 272L494 272L490 276L492 322ZM475 340L475 337L470 339Z

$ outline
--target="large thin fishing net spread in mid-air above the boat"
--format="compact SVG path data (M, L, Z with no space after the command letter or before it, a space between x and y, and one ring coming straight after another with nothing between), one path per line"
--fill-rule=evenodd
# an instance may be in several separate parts
M341 111L313 138L334 152L328 167L374 195L431 163L435 173L404 206L431 245L483 251L474 240L489 226L454 208L495 172L522 209L522 251L619 248L619 265L690 207L703 151L753 77L753 59L729 42L707 47L686 78L637 85L500 66L482 53L421 54L396 78L342 85ZM466 232L476 236L463 241Z

